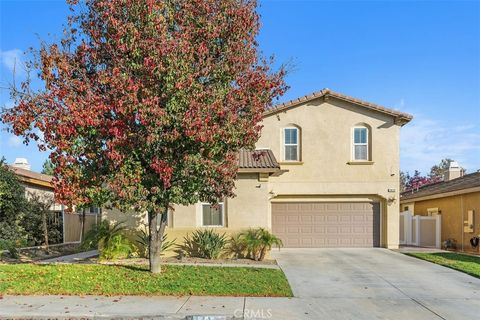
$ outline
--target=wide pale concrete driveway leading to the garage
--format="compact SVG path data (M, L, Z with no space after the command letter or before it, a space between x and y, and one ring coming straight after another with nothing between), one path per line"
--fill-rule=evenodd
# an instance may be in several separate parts
M273 256L293 289L292 308L308 312L305 319L478 319L480 314L479 279L401 253L282 249Z

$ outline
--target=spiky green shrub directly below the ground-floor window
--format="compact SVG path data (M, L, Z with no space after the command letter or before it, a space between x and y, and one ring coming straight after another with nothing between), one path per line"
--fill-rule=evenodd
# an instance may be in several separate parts
M227 238L211 229L197 230L185 238L183 250L191 257L218 259L225 249Z

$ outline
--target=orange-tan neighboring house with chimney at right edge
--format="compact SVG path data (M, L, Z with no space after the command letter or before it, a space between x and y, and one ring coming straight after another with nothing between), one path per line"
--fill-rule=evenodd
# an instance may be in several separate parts
M470 239L480 236L480 172L462 176L453 165L445 172L444 181L403 192L401 211L414 215L441 216L441 241L454 239L458 250L475 250Z

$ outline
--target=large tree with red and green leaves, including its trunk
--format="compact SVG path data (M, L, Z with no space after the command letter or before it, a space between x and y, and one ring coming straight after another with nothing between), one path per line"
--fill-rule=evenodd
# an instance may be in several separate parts
M259 56L254 0L69 3L64 38L30 63L45 88L12 88L3 121L52 150L57 201L147 212L160 272L167 211L234 196L236 154L286 90L284 68Z

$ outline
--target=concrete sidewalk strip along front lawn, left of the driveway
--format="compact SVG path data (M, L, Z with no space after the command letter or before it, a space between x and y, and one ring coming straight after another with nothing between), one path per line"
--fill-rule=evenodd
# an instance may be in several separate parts
M209 315L242 319L247 299L250 298L4 296L0 299L0 318L185 319ZM263 312L266 314L267 310Z

